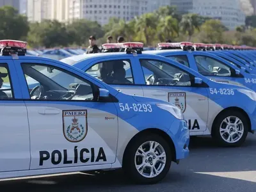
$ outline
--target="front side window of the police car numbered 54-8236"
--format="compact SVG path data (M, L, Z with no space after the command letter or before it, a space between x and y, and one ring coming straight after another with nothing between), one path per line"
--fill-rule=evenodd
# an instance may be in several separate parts
M147 85L191 86L191 76L184 70L159 60L140 60Z

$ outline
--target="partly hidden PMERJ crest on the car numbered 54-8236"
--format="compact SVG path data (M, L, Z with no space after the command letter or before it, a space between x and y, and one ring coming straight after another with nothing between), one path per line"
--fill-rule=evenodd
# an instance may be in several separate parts
M175 104L182 113L186 111L186 93L168 93L168 102Z

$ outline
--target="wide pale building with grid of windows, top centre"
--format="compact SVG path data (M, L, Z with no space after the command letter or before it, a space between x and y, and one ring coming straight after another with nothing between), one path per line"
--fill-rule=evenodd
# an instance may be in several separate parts
M70 0L70 16L107 24L111 17L131 20L137 15L170 5L170 0Z

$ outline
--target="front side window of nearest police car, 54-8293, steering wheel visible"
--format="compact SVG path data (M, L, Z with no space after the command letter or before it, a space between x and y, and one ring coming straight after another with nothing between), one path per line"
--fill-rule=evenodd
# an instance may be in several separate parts
M97 86L68 71L49 65L22 63L31 99L87 100L97 99Z

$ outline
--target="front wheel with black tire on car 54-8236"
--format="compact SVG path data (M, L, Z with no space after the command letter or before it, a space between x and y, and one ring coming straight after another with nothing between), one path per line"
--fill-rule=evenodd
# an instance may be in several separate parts
M243 113L228 110L221 113L212 125L212 138L221 147L240 147L246 140L248 130Z

